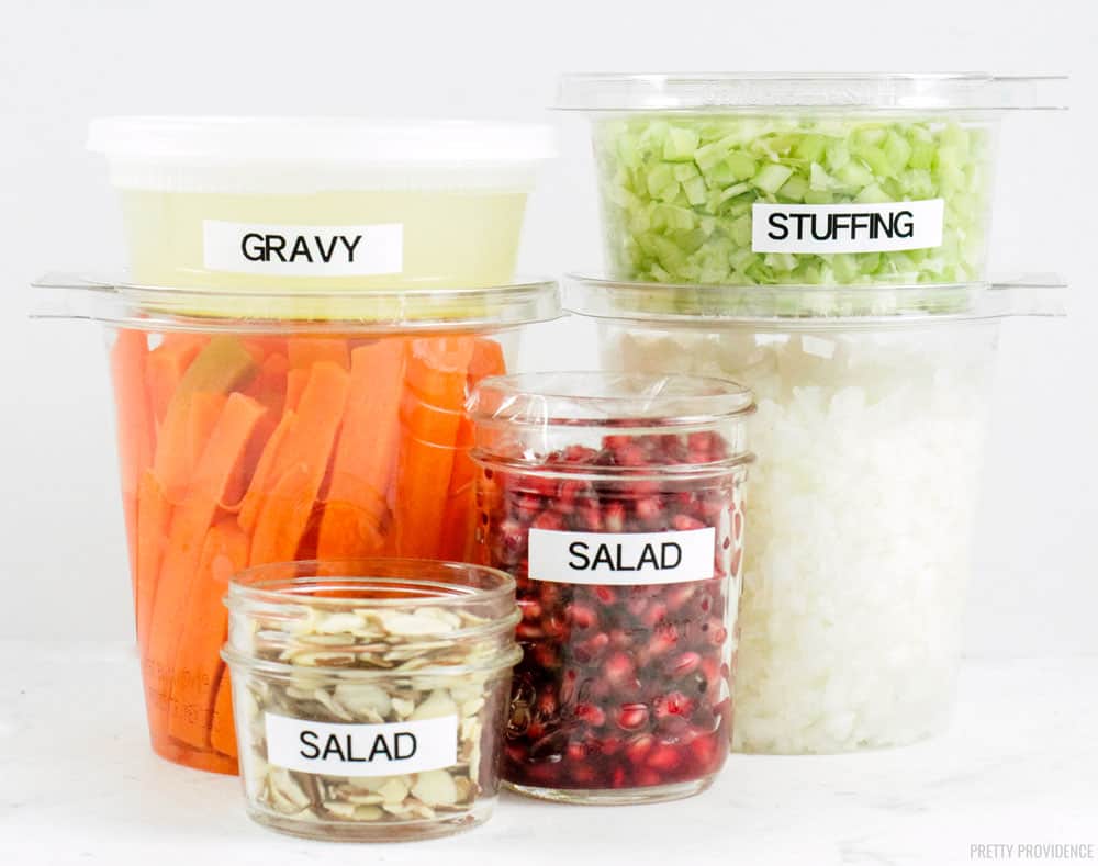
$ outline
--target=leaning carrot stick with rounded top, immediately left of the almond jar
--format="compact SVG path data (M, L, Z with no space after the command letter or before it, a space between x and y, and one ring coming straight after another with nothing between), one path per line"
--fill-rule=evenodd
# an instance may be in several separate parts
M210 747L211 722L223 662L228 578L247 565L248 537L228 518L210 527L179 637L168 733L195 749Z

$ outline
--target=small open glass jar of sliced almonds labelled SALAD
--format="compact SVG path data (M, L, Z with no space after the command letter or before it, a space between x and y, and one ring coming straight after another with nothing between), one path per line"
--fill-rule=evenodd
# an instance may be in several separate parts
M518 659L515 584L425 560L294 562L225 601L248 814L310 839L430 839L488 820Z

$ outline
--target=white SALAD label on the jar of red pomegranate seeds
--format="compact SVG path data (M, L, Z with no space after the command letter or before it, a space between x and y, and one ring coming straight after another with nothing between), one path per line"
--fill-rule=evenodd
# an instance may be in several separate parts
M717 530L558 532L530 529L529 574L554 583L637 585L708 581Z

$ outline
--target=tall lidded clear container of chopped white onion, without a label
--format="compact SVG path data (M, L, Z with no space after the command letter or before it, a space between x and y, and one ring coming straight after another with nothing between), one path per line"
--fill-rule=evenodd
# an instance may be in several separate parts
M630 372L755 394L735 747L833 753L941 731L954 704L1001 319L1055 286L744 289L576 278Z

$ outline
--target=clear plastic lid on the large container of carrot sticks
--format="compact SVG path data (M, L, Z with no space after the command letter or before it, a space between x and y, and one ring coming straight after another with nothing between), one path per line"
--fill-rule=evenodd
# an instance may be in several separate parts
M87 319L149 330L486 333L561 315L559 290L551 280L474 289L234 292L49 273L33 289L33 318Z

